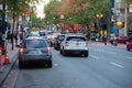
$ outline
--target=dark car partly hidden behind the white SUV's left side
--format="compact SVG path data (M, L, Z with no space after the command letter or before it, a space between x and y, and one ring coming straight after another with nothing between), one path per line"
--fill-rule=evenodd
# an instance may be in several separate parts
M57 37L55 38L55 43L54 43L55 50L61 50L61 43L62 41L64 41L64 38L65 38L65 34L57 35Z

